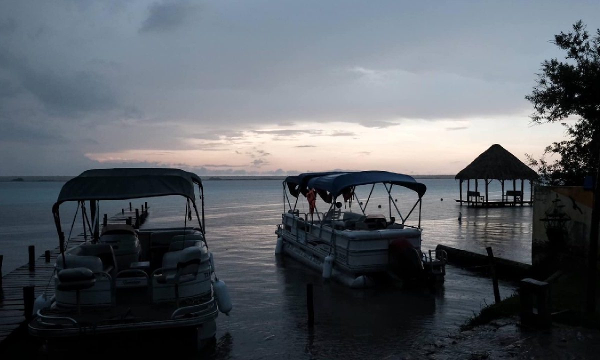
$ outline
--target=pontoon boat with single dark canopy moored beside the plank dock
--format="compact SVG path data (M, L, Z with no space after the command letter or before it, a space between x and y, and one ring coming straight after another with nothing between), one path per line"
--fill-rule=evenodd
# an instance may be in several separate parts
M202 220L194 184L200 191ZM187 199L183 227L137 230L107 224L99 231L100 200L170 195ZM59 217L64 202L77 202L90 239L68 251ZM187 226L192 209L197 227ZM61 249L53 275L55 296L36 300L30 334L52 340L177 328L197 331L199 345L214 337L218 311L227 314L232 307L223 281L214 275L197 175L179 169L88 170L62 187L52 212Z

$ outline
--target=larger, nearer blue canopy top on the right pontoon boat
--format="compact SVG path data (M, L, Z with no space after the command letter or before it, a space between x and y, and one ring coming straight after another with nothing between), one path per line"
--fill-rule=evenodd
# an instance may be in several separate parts
M308 181L307 187L329 191L331 196L335 199L335 197L338 197L349 187L377 184L379 182L409 188L410 190L416 191L416 193L419 194L419 198L427 191L425 184L416 182L412 176L387 171L361 171L319 176L311 178Z

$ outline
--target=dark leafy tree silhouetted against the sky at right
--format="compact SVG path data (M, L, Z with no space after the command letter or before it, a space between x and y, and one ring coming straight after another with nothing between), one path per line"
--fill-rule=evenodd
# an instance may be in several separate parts
M534 124L561 122L567 139L548 145L539 160L527 157L542 183L581 185L596 173L600 154L600 29L590 39L580 20L572 32L554 35L554 44L566 51L565 61L542 62L537 85L525 98L535 108ZM571 116L577 119L569 124ZM560 158L549 163L547 155Z

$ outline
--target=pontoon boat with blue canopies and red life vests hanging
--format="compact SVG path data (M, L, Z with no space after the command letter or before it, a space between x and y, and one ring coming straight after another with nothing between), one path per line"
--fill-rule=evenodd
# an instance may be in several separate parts
M377 184L385 187L389 217L367 214L367 205ZM371 185L362 206L356 187ZM392 199L395 185L415 191L417 200L406 216ZM443 281L447 256L443 251L421 251L421 199L427 187L409 175L383 171L302 173L283 182L284 214L277 226L275 253L285 253L350 287L369 287L381 278L402 281ZM286 191L287 189L287 191ZM292 206L288 193L296 197ZM316 209L316 194L328 204L327 212ZM308 213L301 213L298 200L307 198ZM341 211L342 197L348 211ZM287 200L287 205L286 205ZM360 212L352 212L352 203ZM331 204L331 205L329 205ZM418 223L407 223L418 209ZM399 221L392 216L392 207Z

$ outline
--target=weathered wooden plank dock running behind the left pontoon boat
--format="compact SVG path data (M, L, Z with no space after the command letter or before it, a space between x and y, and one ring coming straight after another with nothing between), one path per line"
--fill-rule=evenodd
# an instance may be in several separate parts
M132 224L138 229L148 217L148 203L141 206L142 210L134 209L131 203L128 209L113 217L107 218L104 214L101 226L110 224ZM88 239L90 236L88 234ZM58 236L56 236L58 243ZM65 240L66 242L66 240ZM67 248L85 242L83 233L71 236ZM5 343L10 343L11 338L26 334L28 320L31 319L33 302L44 291L48 296L54 295L53 271L56 257L60 254L59 248L46 250L41 256L35 257L35 248L29 246L29 262L17 269L2 275L2 255L0 254L0 353Z

